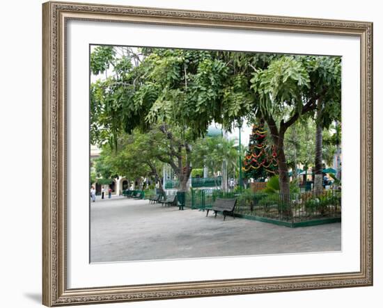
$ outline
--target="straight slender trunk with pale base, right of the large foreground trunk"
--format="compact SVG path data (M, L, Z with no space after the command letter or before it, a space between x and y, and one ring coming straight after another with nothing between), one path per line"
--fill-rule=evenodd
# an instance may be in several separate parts
M322 102L318 102L317 120L316 120L316 133L315 133L315 176L314 176L314 193L320 194L323 191L323 176L322 176L322 141L323 141L323 128L321 120Z

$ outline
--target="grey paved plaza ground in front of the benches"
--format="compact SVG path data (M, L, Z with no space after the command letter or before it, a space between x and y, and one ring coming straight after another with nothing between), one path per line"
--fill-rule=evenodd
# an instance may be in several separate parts
M113 197L91 202L91 262L341 250L341 223L289 228Z

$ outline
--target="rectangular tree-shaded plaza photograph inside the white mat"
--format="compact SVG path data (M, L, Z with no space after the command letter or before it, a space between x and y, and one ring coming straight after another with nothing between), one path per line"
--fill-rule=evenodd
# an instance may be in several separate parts
M90 262L342 250L342 57L91 44Z

